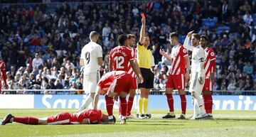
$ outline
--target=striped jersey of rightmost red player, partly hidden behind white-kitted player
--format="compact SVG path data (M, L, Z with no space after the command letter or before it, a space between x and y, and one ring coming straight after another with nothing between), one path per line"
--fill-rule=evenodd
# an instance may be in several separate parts
M206 63L205 63L205 71L206 71L206 78L210 77L210 74L215 72L215 52L212 48L207 47L205 50L206 53Z

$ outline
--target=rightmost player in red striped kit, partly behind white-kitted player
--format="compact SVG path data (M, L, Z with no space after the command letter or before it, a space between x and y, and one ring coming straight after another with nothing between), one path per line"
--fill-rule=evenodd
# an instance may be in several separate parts
M206 114L213 119L213 80L214 80L214 72L215 72L215 52L212 48L207 46L208 37L206 35L201 35L200 44L205 50L206 53L206 63L205 63L205 71L206 71L206 80L203 85L203 103L206 109Z

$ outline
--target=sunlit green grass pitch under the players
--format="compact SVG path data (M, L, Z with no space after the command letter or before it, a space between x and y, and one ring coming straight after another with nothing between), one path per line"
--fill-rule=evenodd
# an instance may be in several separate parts
M75 109L0 109L0 117L45 117ZM105 111L104 111L105 112ZM117 116L117 111L114 111ZM135 111L134 111L135 113ZM161 119L164 110L151 110L152 119L129 119L127 125L0 126L0 137L12 136L256 136L256 111L214 111L214 120ZM176 111L178 115L180 111ZM188 111L187 117L192 111Z

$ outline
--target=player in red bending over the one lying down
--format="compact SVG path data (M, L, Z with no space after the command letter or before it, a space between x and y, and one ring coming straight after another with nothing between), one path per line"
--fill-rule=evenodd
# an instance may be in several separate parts
M105 95L107 114L109 115L109 124L114 124L113 120L113 106L114 97L119 96L121 103L121 123L126 124L127 116L127 94L132 85L132 75L129 75L124 71L112 71L107 72L97 84L97 92L95 94L95 106L94 109L97 110L97 102L99 96Z

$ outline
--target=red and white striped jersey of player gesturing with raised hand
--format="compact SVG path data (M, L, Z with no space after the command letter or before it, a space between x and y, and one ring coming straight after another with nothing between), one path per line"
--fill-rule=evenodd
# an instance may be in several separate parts
M186 73L186 60L188 51L183 45L179 44L171 49L171 75L180 75Z

